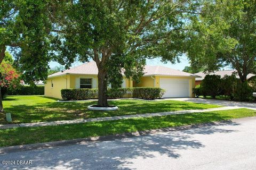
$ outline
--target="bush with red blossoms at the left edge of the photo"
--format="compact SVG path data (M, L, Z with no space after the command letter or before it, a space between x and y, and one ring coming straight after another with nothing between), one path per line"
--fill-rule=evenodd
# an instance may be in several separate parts
M16 88L19 84L19 74L9 63L3 61L0 65L0 87L2 90L2 96L7 88Z

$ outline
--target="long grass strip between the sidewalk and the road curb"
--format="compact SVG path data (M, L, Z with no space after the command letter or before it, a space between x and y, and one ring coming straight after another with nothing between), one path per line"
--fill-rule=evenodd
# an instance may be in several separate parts
M250 109L0 130L0 147L119 134L256 116Z

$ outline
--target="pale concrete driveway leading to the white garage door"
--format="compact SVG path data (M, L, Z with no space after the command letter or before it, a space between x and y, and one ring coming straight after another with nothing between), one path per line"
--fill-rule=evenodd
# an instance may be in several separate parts
M167 98L168 100L179 100L179 101L191 101L195 103L205 103L205 104L214 104L222 106L231 106L231 107L245 107L256 110L256 103L247 103L240 101L227 101L227 100L214 100L214 99L204 99L204 98Z

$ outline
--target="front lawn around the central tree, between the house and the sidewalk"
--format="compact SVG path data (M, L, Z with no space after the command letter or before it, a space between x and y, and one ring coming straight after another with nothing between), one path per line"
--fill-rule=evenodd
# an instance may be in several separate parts
M76 118L95 118L221 107L218 105L174 100L142 101L125 99L109 101L109 104L119 107L118 111L102 112L87 110L87 106L96 104L97 101L57 103L55 102L56 100L57 99L44 96L7 96L3 101L3 105L5 112L12 114L12 123L49 122L74 120ZM0 114L0 124L7 124L4 114Z

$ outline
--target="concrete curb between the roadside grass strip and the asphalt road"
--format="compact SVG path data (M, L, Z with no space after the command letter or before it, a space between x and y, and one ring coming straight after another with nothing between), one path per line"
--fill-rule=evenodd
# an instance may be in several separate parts
M112 134L112 135L106 135L102 137L91 137L91 138L71 139L71 140L62 140L62 141L45 142L45 143L35 143L35 144L29 144L29 145L2 147L0 148L0 155L12 153L12 152L35 150L35 149L45 149L45 148L52 148L52 147L59 147L59 146L86 144L89 142L101 142L101 141L110 141L110 140L123 139L123 138L132 138L132 137L139 137L139 136L157 134L162 132L182 131L182 130L203 128L206 126L230 124L230 123L233 123L233 121L242 122L247 120L253 120L255 118L256 117L244 117L244 118L237 118L237 119L228 120L228 121L177 126L174 128L162 128L162 129L154 129L154 130L136 131L131 133Z

